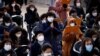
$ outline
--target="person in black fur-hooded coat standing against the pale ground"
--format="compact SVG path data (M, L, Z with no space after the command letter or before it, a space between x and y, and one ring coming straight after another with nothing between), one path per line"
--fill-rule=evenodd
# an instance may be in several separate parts
M31 31L33 29L33 25L40 21L39 19L39 14L37 12L37 8L34 5L29 5L26 8L26 13L25 13L25 22L27 24L27 29L28 29L28 34L31 36Z

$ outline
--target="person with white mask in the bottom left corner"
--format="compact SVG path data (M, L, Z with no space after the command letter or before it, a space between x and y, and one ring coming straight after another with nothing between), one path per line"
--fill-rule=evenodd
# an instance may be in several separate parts
M12 41L10 39L2 42L2 49L0 50L0 56L17 56L13 49Z

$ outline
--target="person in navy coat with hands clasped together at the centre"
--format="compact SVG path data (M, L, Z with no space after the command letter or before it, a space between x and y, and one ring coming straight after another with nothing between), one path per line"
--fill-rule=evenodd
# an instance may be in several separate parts
M58 55L58 48L57 46L59 46L59 44L56 41L60 41L59 35L61 34L61 31L59 29L59 25L56 21L54 21L55 19L55 14L48 12L47 13L47 28L44 30L44 34L45 34L45 40L48 41L52 46L53 46L53 52L54 55ZM58 39L59 38L59 39Z

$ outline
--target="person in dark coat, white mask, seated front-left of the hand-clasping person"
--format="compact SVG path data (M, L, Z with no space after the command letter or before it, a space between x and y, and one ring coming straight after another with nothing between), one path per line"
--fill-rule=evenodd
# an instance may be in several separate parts
M47 43L45 41L43 31L35 32L35 36L33 36L32 45L31 45L31 56L39 56L42 53L42 46Z

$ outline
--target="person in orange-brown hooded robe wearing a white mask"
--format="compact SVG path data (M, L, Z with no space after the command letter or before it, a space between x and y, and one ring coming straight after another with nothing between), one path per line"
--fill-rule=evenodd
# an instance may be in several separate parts
M70 56L70 50L75 40L80 38L82 32L80 30L81 19L69 17L68 23L63 31L62 36L62 52L63 56Z

